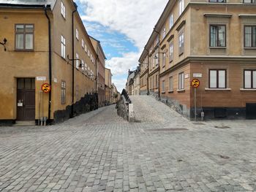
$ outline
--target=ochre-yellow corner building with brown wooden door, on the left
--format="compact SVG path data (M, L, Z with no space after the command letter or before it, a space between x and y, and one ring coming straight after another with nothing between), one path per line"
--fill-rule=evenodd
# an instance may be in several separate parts
M48 122L95 105L97 53L70 0L1 1L0 122ZM15 4L14 4L15 3ZM42 85L50 85L49 93ZM86 106L84 106L86 105Z

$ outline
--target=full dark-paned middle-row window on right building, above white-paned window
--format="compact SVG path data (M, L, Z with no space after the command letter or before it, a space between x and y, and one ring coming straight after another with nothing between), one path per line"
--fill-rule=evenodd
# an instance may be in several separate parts
M226 26L210 26L210 47L226 46Z

